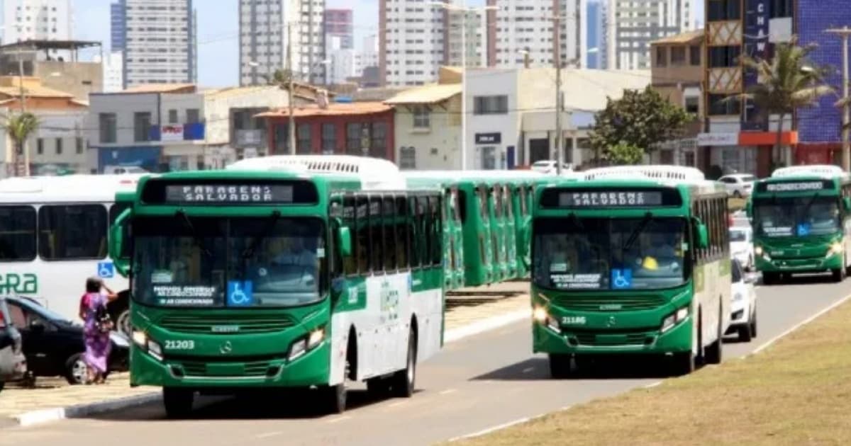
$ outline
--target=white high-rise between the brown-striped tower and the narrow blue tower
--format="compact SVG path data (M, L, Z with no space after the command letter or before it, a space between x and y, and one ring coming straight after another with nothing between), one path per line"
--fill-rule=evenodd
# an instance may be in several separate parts
M554 8L558 2L561 14ZM528 52L530 66L552 66L553 40L558 31L562 64L584 67L587 50L587 0L488 0L496 6L495 23L488 25L494 40L492 65L523 66ZM555 29L555 19L562 20Z

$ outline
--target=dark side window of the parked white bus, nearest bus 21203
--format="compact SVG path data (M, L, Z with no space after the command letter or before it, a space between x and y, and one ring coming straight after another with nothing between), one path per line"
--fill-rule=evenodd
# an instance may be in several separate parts
M106 257L106 207L42 206L38 210L38 252L44 260Z

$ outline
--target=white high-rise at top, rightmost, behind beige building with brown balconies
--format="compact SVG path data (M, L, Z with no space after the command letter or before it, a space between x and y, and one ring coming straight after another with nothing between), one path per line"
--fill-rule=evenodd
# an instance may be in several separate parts
M650 42L694 30L692 0L609 0L608 68L649 70Z

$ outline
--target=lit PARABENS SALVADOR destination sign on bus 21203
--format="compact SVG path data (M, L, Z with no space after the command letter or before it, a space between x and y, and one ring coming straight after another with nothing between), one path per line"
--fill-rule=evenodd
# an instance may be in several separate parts
M281 184L169 184L168 203L264 204L292 203L293 186Z

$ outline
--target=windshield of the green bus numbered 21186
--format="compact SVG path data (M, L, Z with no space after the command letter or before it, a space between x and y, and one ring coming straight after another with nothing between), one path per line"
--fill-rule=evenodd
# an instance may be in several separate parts
M534 283L571 291L682 285L690 271L686 228L680 217L538 219Z

